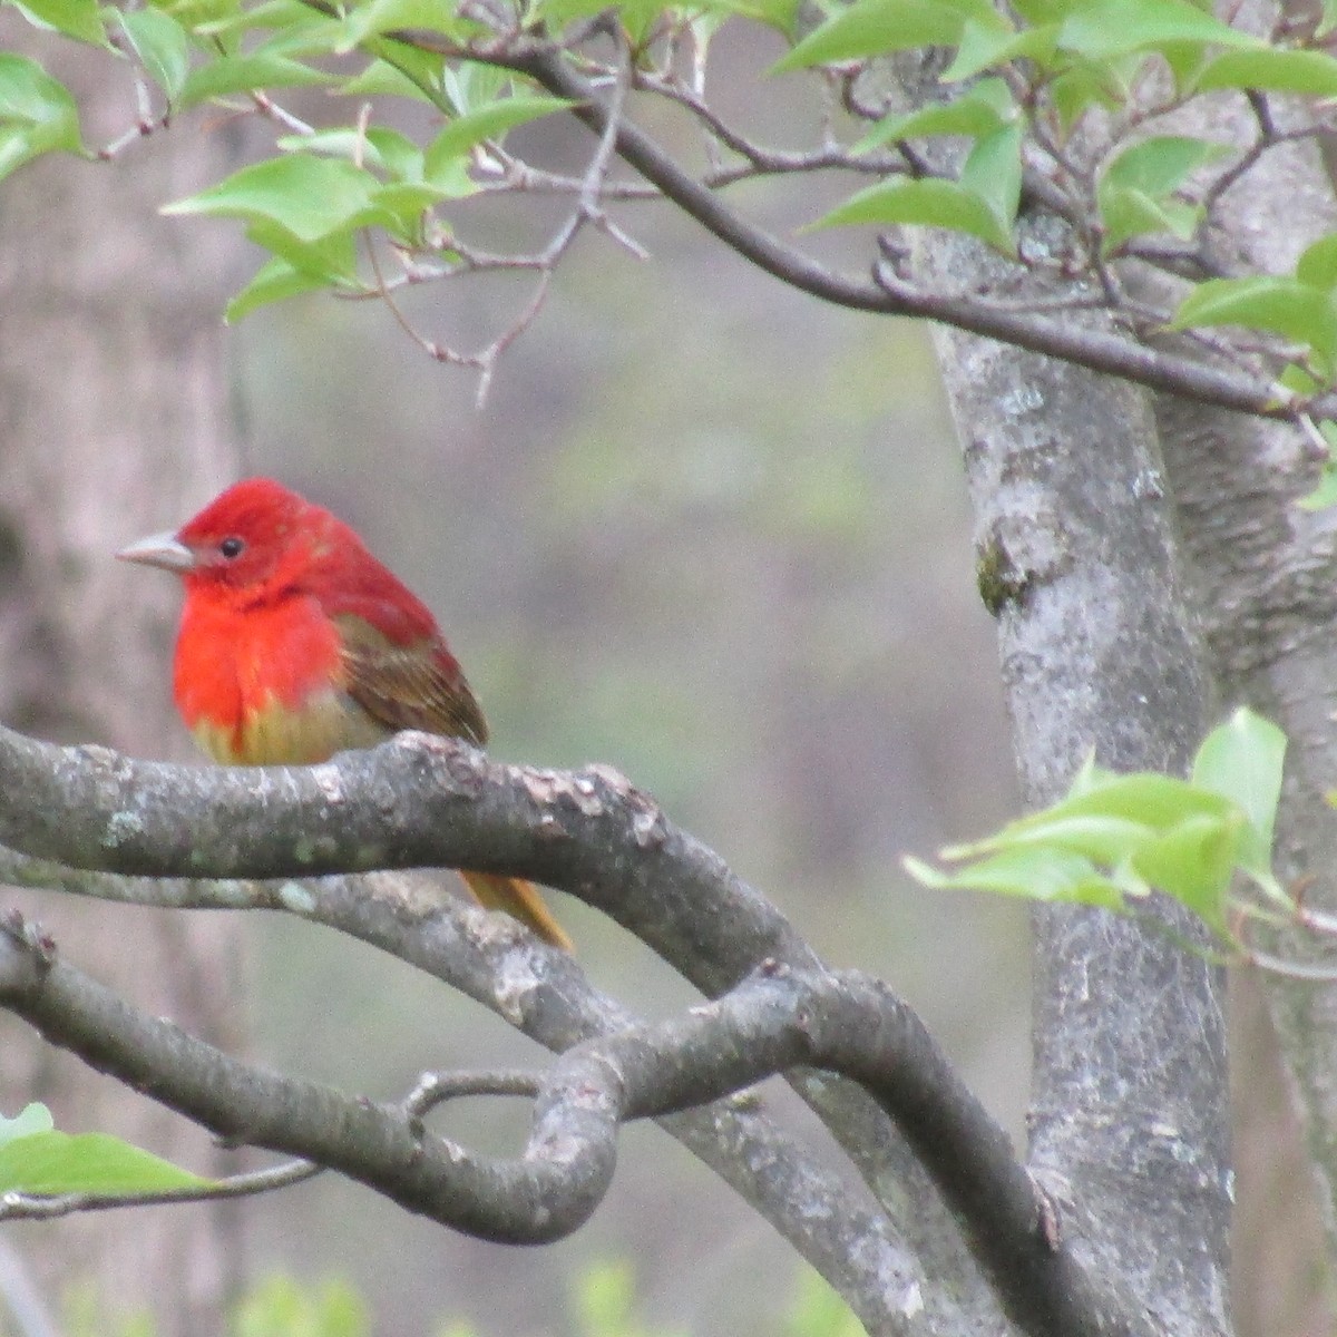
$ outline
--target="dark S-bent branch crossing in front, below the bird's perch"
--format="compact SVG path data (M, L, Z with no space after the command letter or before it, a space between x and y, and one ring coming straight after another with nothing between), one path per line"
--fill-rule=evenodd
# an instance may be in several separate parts
M623 1122L715 1100L796 1064L844 1072L906 1131L1025 1330L1151 1330L1111 1308L1115 1297L1055 1238L1005 1134L913 1013L857 973L773 967L682 1017L570 1050L543 1082L517 1159L424 1132L404 1103L345 1098L230 1059L138 1013L16 920L0 932L0 1003L223 1136L328 1165L410 1211L508 1243L548 1242L588 1219L611 1182Z

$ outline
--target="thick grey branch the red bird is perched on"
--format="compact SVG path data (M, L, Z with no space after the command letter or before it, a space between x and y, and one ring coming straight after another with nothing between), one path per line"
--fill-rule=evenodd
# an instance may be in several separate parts
M0 729L0 844L75 868L214 878L504 870L602 909L707 992L766 956L812 960L717 854L602 766L505 766L457 739L404 733L322 766L219 770Z

